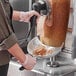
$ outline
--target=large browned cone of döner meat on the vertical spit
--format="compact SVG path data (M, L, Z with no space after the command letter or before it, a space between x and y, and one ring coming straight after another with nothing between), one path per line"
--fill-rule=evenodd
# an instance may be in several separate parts
M66 38L70 0L48 0L48 3L51 12L46 16L40 39L46 45L60 47Z

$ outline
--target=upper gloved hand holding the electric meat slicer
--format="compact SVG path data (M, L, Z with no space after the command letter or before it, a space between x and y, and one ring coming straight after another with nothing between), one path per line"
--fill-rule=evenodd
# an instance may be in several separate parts
M20 21L29 22L30 18L34 15L37 16L37 20L38 20L40 17L40 14L34 10L28 11L28 12L20 12Z

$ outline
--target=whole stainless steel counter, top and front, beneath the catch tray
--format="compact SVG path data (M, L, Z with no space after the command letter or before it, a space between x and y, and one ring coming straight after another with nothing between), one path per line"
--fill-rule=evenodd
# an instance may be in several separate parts
M60 57L59 57L60 58ZM76 65L70 64L72 61L66 58L60 58L59 62L65 65L53 68L48 67L46 63L49 59L37 59L37 64L31 71L20 71L21 65L15 61L10 61L8 76L69 76L70 73L76 71ZM71 75L73 76L73 75Z

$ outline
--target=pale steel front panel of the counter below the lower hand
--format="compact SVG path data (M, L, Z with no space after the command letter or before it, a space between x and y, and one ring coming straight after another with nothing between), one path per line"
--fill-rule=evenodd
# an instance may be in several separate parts
M19 70L20 66L21 65L18 64L17 62L10 61L10 66L7 76L43 76L42 74L33 71L27 71L27 70L20 71Z

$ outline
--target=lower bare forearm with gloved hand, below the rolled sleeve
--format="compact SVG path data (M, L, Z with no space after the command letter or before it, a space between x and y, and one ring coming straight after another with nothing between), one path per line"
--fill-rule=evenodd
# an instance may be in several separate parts
M34 65L36 64L36 59L28 54L25 55L17 43L9 48L8 51L14 57L16 57L27 70L33 69Z

